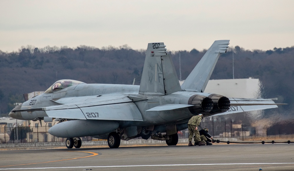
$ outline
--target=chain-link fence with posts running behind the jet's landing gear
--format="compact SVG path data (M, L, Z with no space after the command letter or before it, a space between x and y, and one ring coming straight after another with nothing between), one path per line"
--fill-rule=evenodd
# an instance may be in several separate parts
M237 138L239 140L248 140L254 138L265 138L268 135L257 134L255 127L250 125L237 124L232 121L210 121L201 122L202 128L208 128L210 135L214 138ZM40 126L1 126L0 143L34 143L34 142L61 142L66 138L59 138L48 133L50 125ZM188 129L178 131L179 138L188 138ZM280 136L280 135L278 135ZM81 137L83 141L97 140L90 136ZM140 139L140 138L139 138Z

